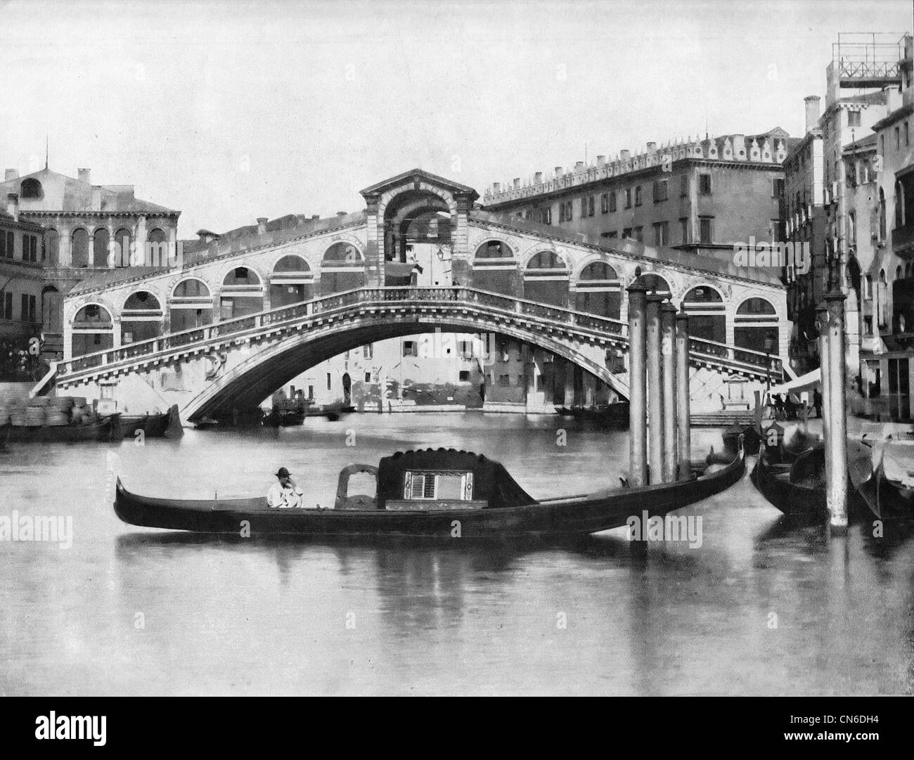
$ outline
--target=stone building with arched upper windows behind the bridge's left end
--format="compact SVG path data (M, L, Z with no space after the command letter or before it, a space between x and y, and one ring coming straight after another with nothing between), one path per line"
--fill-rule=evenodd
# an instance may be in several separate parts
M10 193L18 195L20 218L45 230L36 263L45 280L40 311L51 353L61 348L63 295L100 269L129 266L129 255L110 255L112 242L121 251L142 252L147 243L177 239L179 211L137 198L133 185L92 185L89 169L76 178L47 166L21 177L6 169L0 197Z

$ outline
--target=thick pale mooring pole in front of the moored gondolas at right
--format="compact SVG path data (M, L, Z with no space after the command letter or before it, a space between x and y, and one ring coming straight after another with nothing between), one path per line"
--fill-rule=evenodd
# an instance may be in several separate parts
M828 310L828 434L825 459L829 463L825 480L832 533L847 530L847 422L845 419L845 299L844 293L825 294ZM823 375L823 376L824 376Z

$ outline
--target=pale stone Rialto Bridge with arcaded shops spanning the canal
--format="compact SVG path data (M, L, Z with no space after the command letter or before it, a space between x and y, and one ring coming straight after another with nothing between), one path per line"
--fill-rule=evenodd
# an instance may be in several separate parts
M497 333L627 396L624 289L641 274L690 315L693 408L781 380L785 290L771 273L631 240L594 241L494 216L473 188L413 170L331 219L258 220L169 268L110 269L65 300L59 394L182 418L257 406L308 367L365 343ZM202 243L201 243L202 245ZM417 250L434 266L417 274Z

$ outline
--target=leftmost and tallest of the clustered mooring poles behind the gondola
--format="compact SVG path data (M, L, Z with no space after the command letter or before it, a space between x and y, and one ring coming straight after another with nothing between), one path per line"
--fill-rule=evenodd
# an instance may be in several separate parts
M629 485L647 485L647 288L640 280L629 294Z

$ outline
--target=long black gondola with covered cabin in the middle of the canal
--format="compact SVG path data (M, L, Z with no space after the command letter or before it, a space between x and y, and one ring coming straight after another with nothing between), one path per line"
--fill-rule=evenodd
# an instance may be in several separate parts
M549 538L598 533L632 515L663 516L737 482L745 456L722 469L644 488L537 501L498 462L468 451L426 449L349 465L340 472L334 509L270 509L264 497L185 500L140 496L117 481L114 512L151 528L250 535L412 536L417 538ZM348 493L349 477L374 475L374 495Z

